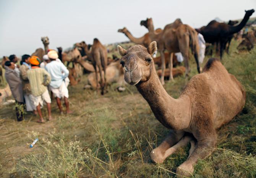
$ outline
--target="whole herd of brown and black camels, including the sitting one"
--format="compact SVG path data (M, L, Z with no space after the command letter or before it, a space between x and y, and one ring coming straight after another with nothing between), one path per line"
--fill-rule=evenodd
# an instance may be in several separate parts
M97 38L94 38L92 45L87 45L84 41L75 43L75 48L66 52L58 48L59 58L63 63L73 63L73 68L69 69L71 84L78 82L80 74L77 68L83 66L87 72L92 72L88 76L91 87L97 90L100 88L102 94L106 91L107 83L122 83L125 80L126 83L135 85L159 122L171 130L160 146L152 150L152 160L162 163L177 148L190 142L188 159L177 168L177 174L191 176L197 160L204 159L214 151L217 144L217 128L230 122L243 110L246 98L243 86L235 76L228 73L219 59L209 59L201 69L198 62L198 32L207 43L219 45L222 58L224 50L227 48L228 51L233 34L246 25L253 13L253 9L245 11L245 16L238 25L235 25L238 22L234 21L229 24L211 21L200 29L193 29L176 19L163 30L155 30L152 18L147 18L140 23L149 31L143 37L133 37L126 28L118 30L137 44L128 50L118 45L121 59L116 56L113 56L113 59L108 58L107 49ZM248 32L247 35L254 37L246 38L248 41L255 39L253 32ZM45 49L39 48L32 55L42 59L49 49L49 38L42 37L41 40ZM157 50L160 56L153 58ZM174 99L163 87L165 68L169 64L170 80L173 79L174 73L185 72L188 76L190 51L196 60L198 73L201 74L192 77L179 98ZM181 52L185 67L174 72L173 64L177 64L177 59L173 53L177 52ZM155 64L161 66L161 70L157 71Z

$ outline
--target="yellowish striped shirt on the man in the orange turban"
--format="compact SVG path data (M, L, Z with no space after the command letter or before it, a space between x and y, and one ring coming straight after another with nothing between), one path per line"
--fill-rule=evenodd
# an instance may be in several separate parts
M27 71L27 74L32 95L42 95L45 90L47 90L47 85L49 85L51 81L50 74L40 67L31 67L31 69Z

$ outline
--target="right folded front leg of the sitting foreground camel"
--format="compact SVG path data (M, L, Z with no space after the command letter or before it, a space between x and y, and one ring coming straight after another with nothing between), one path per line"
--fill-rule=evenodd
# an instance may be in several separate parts
M177 175L186 177L193 175L194 165L198 159L204 159L209 156L216 147L216 141L217 136L215 133L214 135L210 135L204 139L199 140L194 148L194 151L191 153L188 159L177 168Z

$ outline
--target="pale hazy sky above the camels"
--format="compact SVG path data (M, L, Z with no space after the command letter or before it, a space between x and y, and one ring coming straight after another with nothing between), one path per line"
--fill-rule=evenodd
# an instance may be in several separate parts
M98 38L103 44L127 41L117 30L127 27L134 37L147 33L139 22L152 18L155 28L181 18L192 27L219 17L241 19L244 10L256 9L256 0L0 0L0 57L33 53L49 47L63 49ZM252 15L256 17L256 13Z

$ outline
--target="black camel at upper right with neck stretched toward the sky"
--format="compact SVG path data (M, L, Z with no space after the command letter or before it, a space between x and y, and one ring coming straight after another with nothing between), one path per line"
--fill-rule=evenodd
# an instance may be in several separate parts
M219 23L211 21L207 26L201 27L199 33L204 36L204 40L207 43L220 43L220 59L222 58L225 44L228 41L228 37L239 32L245 25L250 16L254 13L254 9L245 11L243 20L237 26L230 26L225 23Z

